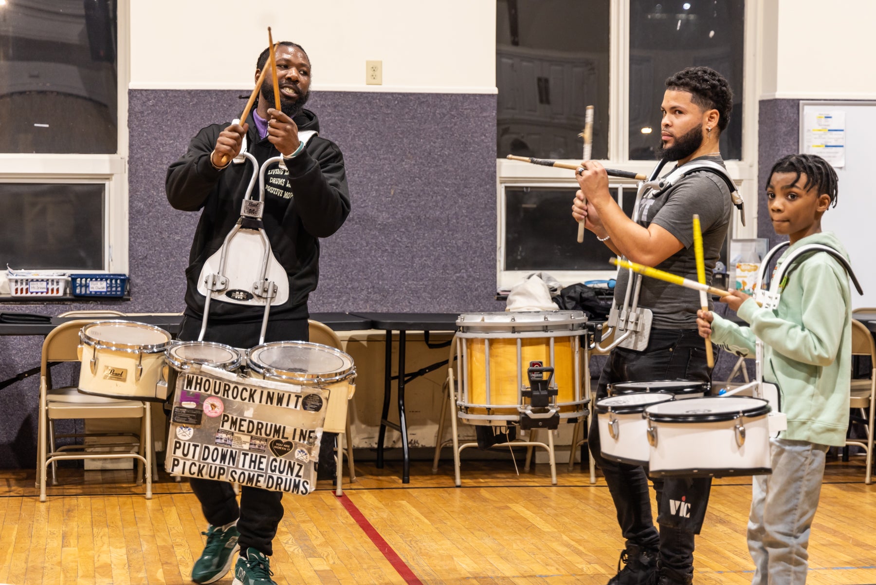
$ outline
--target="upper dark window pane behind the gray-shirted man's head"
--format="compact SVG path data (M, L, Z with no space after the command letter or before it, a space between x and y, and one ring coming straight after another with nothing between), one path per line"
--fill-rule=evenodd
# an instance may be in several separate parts
M733 111L721 135L721 153L728 160L742 158L744 32L745 0L630 1L631 160L655 158L666 79L699 66L730 82Z

